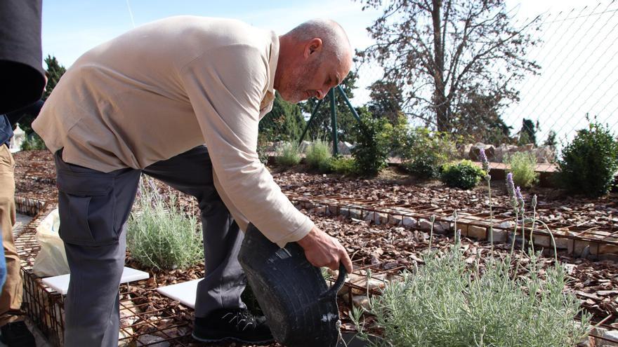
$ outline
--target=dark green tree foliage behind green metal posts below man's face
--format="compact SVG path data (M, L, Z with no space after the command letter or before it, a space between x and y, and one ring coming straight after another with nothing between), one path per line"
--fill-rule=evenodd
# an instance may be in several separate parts
M350 74L341 83L341 88L348 96L348 99L354 97L354 91L356 89L356 80L358 78L357 72L351 71ZM313 112L315 105L319 100L311 98L301 104L303 111L310 114ZM337 111L337 137L339 141L354 142L355 132L352 131L352 127L357 123L356 118L350 111L348 104L343 100L343 97L339 93L335 93L335 108ZM358 113L358 109L356 109ZM324 97L324 101L320 105L317 114L313 118L310 124L310 128L307 132L308 137L312 139L322 138L331 139L332 126L331 126L331 108L330 108L330 94Z

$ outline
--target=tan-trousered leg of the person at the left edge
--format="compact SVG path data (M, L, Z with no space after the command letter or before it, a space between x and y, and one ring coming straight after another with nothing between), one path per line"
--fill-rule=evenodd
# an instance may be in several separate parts
M0 144L0 228L6 259L6 282L0 295L0 326L18 320L11 311L19 311L22 305L22 278L20 259L13 241L15 224L15 161L11 151Z

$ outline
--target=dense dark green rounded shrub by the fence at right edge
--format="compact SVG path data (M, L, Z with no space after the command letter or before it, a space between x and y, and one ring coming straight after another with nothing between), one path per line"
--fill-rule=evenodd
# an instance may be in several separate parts
M618 141L607 126L591 122L579 130L558 160L558 184L572 193L603 196L618 170Z

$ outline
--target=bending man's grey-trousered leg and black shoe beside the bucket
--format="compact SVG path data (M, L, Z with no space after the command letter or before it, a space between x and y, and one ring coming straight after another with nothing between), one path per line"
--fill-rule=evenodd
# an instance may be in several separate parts
M244 234L230 217L214 185L206 147L196 147L143 170L197 198L202 212L206 273L197 285L192 336L204 342L272 341L265 318L254 317L240 299L246 277L238 262Z

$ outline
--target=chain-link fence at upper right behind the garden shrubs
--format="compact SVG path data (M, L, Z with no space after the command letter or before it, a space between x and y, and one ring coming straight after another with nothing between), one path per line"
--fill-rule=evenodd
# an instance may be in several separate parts
M435 114L444 103L436 102L437 87L431 76L419 75L420 81L414 83L397 81L393 75L400 76L401 72L397 72L393 60L386 68L375 57L357 62L355 76L351 77L357 88L343 87L351 94L348 96L355 107L364 107L374 116L402 114L411 125L467 136L472 143L527 144L530 148L531 144L548 145L559 153L578 130L588 127L589 121L603 123L618 134L618 45L614 44L618 39L617 12L616 1L569 11L550 10L527 18L522 18L518 8L507 9L516 34L504 42L529 37L530 44L520 53L534 67L522 73L505 64L504 57L482 62L487 69L479 73L495 74L497 83L511 83L515 96L484 94L482 86L462 91L449 104L450 119L456 121L446 126L436 121L440 117ZM449 59L453 57L447 57L447 65ZM489 80L492 78L489 76ZM445 90L443 94L450 92ZM341 105L338 109L344 126L353 122L346 115L343 100L337 104ZM320 132L318 128L322 133L329 132L325 128L329 123L327 105L329 100L324 100L322 125L311 125L316 127L316 134ZM305 112L310 112L310 107L305 108Z

